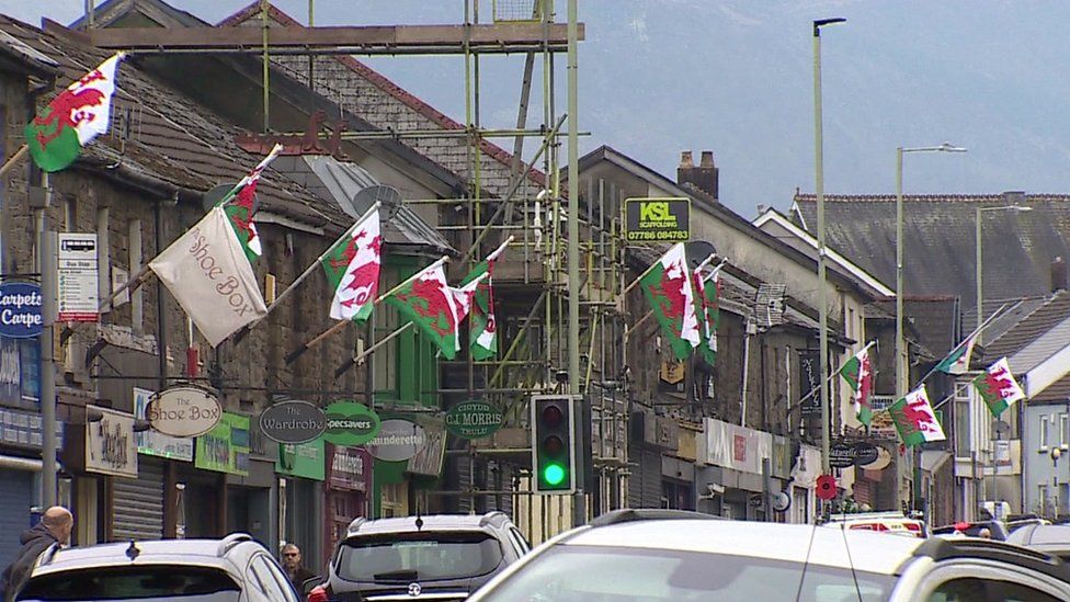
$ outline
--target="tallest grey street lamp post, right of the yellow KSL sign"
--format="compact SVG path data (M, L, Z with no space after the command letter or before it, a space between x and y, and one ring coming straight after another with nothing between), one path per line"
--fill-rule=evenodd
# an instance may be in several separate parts
M826 299L824 266L824 139L821 124L821 27L843 23L846 19L818 19L813 22L813 169L818 197L818 305L820 320L821 359L821 474L832 472L829 466L829 307Z

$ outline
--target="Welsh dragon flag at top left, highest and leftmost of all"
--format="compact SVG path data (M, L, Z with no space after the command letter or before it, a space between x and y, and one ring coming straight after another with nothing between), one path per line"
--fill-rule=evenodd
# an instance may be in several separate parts
M107 132L115 93L118 53L71 83L26 124L26 146L37 167L59 171L75 162L82 147Z

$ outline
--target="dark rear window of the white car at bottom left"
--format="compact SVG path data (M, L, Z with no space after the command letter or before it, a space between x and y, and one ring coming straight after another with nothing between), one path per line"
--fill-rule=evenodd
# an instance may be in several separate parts
M16 600L98 602L237 602L240 588L225 571L175 565L95 567L42 575Z

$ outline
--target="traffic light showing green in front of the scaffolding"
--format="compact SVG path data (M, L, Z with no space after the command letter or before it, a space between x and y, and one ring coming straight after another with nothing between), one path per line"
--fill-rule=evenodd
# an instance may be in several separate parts
M572 397L532 397L532 473L536 493L576 490L576 423Z

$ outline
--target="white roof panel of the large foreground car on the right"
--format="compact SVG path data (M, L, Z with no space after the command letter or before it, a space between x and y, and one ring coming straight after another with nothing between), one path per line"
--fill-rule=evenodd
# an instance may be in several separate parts
M681 519L585 529L561 539L560 545L726 554L895 575L923 542L805 524Z

